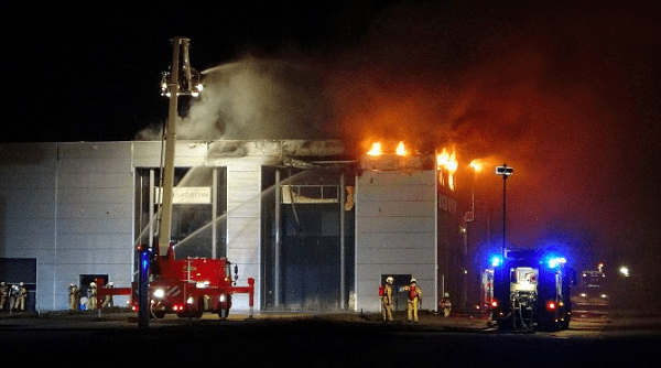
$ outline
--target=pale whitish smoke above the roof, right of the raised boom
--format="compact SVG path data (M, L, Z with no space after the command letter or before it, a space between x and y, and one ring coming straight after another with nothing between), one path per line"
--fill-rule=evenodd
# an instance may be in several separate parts
M293 62L257 59L203 72L204 90L177 121L177 139L318 138L324 120L319 74ZM162 128L139 139L160 139Z

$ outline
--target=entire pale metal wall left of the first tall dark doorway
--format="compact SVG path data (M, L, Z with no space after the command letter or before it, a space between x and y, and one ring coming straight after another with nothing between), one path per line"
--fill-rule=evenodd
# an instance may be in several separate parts
M36 258L36 307L66 309L68 284L82 273L130 285L132 143L0 144L0 241L8 245L0 252Z

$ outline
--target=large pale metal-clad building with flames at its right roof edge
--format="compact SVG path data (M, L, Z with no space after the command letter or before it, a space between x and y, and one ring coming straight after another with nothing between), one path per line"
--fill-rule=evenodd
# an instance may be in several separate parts
M0 144L1 280L25 282L37 310L66 309L71 283L129 286L136 246L158 239L161 144ZM423 309L436 310L444 292L460 296L466 256L456 158L445 153L399 143L353 158L333 140L178 141L175 256L227 257L238 284L256 279L258 310L378 311L387 275L416 278ZM241 296L238 310L248 307Z

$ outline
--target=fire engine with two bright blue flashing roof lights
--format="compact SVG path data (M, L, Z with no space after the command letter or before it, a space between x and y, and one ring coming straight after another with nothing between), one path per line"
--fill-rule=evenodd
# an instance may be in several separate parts
M499 329L564 329L572 318L575 272L551 251L508 251L492 259L491 317Z

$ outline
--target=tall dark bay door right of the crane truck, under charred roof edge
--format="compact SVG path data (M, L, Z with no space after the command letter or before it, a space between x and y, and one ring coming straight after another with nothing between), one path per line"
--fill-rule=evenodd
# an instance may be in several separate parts
M354 283L354 210L353 206L342 207L340 195L350 191L343 190L340 175L343 171L336 169L262 167L266 309L324 311L348 303ZM349 178L345 186L353 186L353 175L344 172L344 176ZM280 202L280 216L275 201ZM340 295L343 235L345 294Z

